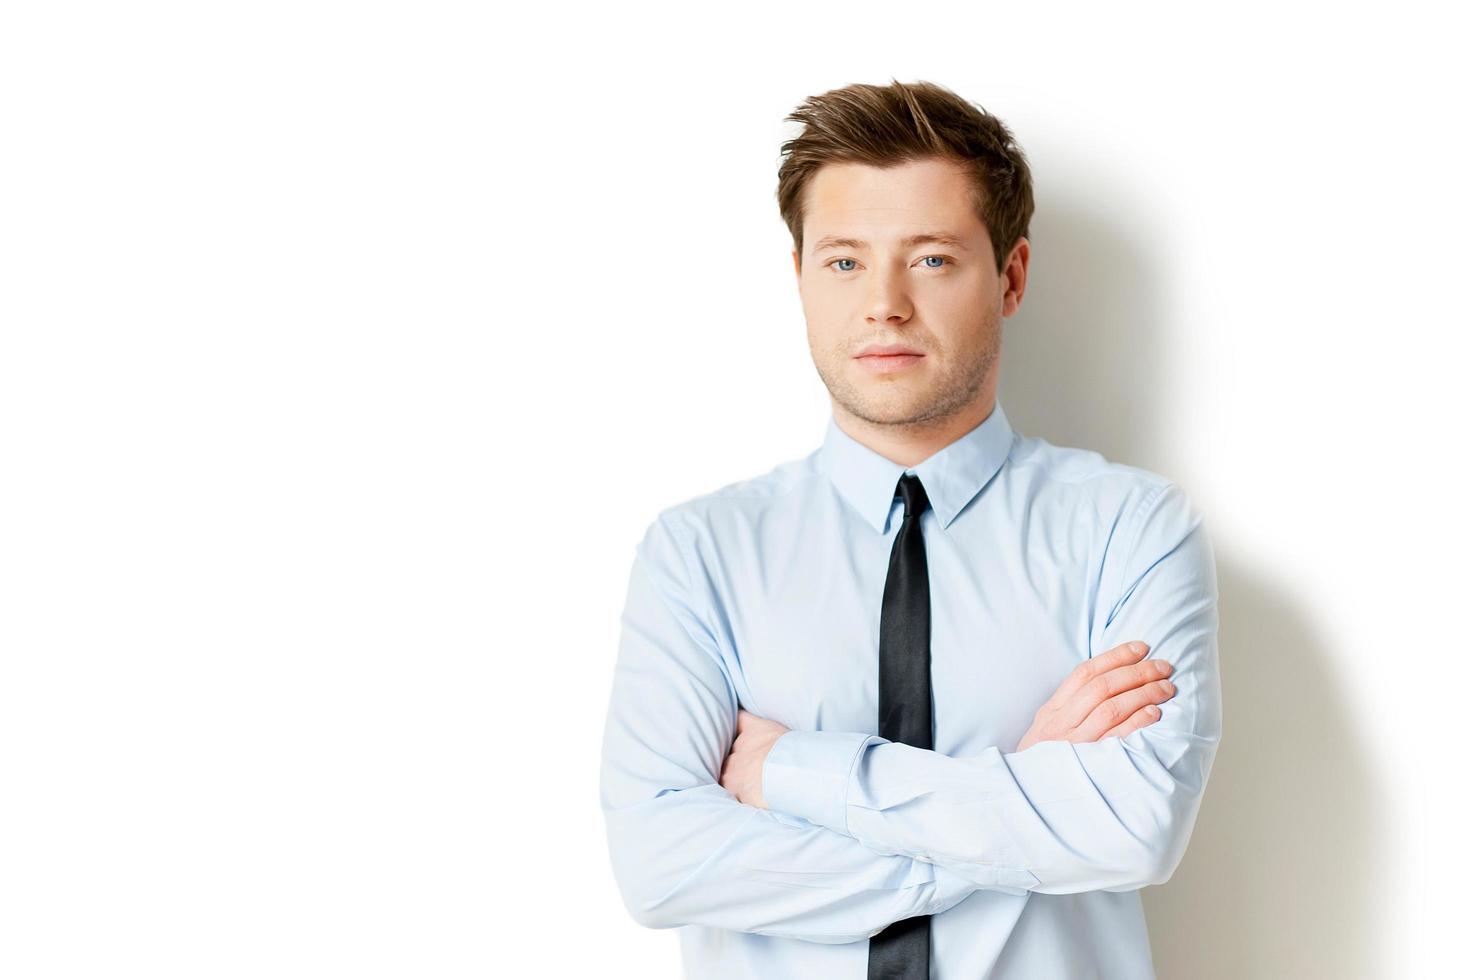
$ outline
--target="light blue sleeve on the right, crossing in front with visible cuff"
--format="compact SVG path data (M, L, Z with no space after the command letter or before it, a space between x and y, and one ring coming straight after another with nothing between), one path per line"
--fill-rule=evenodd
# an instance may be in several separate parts
M1134 519L1127 557L1105 563L1094 653L1143 640L1174 666L1177 693L1159 719L1124 738L965 757L790 731L763 768L767 805L980 887L1002 875L1064 895L1170 878L1221 737L1217 573L1202 516L1174 483L1152 489Z

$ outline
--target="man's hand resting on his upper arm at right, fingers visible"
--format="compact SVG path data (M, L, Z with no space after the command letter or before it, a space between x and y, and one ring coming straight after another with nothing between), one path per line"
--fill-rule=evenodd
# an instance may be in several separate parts
M1018 752L1038 741L1099 741L1125 737L1161 718L1161 701L1177 693L1167 679L1171 665L1142 660L1146 644L1122 643L1090 657L1064 679L1018 743Z

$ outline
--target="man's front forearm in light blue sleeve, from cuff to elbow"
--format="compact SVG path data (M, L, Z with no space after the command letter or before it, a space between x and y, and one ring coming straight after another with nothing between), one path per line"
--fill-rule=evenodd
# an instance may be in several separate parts
M843 772L844 755L856 756L850 774L829 780ZM1205 771L1195 762L1171 771L1145 729L966 757L859 732L790 732L769 756L764 783L773 809L876 853L932 862L977 887L1062 895L1170 877Z

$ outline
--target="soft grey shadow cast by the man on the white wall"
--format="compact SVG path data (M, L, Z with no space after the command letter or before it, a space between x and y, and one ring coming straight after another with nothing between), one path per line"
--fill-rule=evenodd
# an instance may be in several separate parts
M1089 208L1033 224L1028 292L1005 321L1000 398L1019 432L1165 473L1156 391L1173 363L1146 249ZM1333 651L1293 588L1217 554L1223 743L1187 853L1142 896L1162 980L1380 976L1382 796Z

